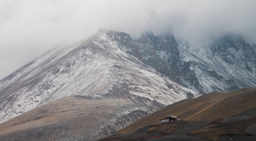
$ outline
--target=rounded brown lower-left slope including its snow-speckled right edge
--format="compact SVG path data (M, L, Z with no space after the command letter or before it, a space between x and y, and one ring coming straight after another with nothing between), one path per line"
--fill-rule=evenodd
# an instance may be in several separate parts
M147 114L140 109L133 109L137 106L128 101L69 96L0 124L0 141L96 140L108 134L104 130L113 130L114 123L126 126ZM142 105L139 107L145 108ZM134 119L121 110L130 112L128 114Z

